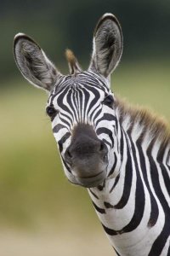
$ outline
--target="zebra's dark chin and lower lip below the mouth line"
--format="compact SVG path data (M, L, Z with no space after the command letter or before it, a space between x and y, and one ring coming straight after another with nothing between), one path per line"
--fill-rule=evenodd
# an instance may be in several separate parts
M77 184L85 188L94 188L103 183L106 177L106 171L99 172L98 174L90 177L77 177Z

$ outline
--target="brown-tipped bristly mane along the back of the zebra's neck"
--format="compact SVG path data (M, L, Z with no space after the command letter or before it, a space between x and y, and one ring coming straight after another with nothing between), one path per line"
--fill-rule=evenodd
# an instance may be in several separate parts
M133 106L116 97L116 109L120 123L126 126L126 130L133 130L134 125L139 125L142 129L142 140L149 134L152 142L158 141L161 148L170 147L170 129L167 120L160 118L148 108ZM141 131L141 130L140 130Z

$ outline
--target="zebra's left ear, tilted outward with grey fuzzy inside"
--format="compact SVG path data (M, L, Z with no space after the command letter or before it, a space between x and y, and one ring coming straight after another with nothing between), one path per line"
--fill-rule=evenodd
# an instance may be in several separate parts
M40 46L25 34L14 37L14 60L22 75L33 85L52 90L60 73Z

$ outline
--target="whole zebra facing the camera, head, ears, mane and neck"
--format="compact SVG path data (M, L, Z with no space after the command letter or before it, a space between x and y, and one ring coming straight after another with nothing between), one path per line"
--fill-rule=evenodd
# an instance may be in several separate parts
M117 255L170 255L170 132L163 119L111 91L122 56L122 28L103 15L82 71L70 49L63 75L26 34L14 38L14 59L33 85L48 92L65 176L88 189Z

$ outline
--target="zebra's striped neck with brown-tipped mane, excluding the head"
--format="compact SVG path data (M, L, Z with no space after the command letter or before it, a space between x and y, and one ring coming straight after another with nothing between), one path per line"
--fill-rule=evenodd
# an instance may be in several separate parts
M167 255L170 241L167 126L148 113L142 120L141 111L137 110L132 113L117 108L116 117L118 141L122 140L119 172L116 177L108 177L102 186L88 189L89 195L106 235L120 255Z

